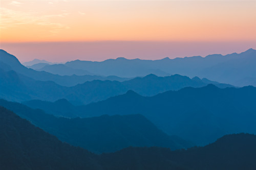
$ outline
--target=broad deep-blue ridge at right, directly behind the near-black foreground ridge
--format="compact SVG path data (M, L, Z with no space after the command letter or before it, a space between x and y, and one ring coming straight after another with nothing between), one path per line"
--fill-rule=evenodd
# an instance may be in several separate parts
M207 144L229 134L256 133L256 88L183 88L152 97L134 91L83 107L84 117L142 114L168 134Z

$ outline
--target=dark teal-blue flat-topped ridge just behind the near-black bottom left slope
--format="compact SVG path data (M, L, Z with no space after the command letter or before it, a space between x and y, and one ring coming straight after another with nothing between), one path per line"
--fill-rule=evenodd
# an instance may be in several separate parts
M91 118L57 118L42 110L0 100L0 106L14 111L60 140L92 152L113 152L129 146L181 149L192 144L168 136L142 115L103 115Z

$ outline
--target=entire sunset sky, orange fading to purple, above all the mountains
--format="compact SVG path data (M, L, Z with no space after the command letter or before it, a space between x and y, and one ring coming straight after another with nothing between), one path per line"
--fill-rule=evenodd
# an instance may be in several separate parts
M20 61L161 59L256 48L256 1L6 1L0 48Z

